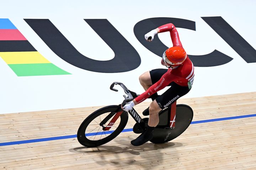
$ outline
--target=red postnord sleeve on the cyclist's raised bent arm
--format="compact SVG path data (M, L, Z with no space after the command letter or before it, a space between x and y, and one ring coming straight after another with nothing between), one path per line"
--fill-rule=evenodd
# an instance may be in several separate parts
M174 24L172 24L172 23L165 24L163 26L158 27L158 29L159 29L160 33L169 31L170 35L171 35L173 46L182 47L182 44L181 44L181 41L180 41L180 37L178 35L177 29L174 26Z

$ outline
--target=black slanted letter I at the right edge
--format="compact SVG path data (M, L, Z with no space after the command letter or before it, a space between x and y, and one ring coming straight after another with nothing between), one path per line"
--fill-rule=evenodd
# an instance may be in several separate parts
M247 63L256 62L256 50L222 17L202 17Z

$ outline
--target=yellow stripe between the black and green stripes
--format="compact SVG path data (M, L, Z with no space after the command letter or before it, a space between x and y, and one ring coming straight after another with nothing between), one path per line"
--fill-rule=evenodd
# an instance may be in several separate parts
M0 52L0 57L2 57L7 64L50 63L38 51Z

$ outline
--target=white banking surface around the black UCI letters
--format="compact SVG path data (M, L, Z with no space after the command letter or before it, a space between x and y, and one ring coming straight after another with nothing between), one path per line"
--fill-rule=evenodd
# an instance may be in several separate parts
M160 57L136 39L133 27L137 22L153 17L182 18L196 22L196 32L178 28L183 47L190 55L204 55L216 49L234 58L222 66L196 67L193 88L184 97L256 91L256 63L246 63L201 18L223 17L256 49L255 6L255 1L236 0L1 2L0 18L9 18L37 51L71 75L17 77L0 57L0 113L119 104L123 100L123 91L109 90L114 81L142 93L139 75L150 69L164 67L160 64ZM50 19L71 44L87 57L95 56L95 51L100 47L106 55L95 56L95 60L110 60L114 53L83 19L108 19L137 50L142 62L137 69L126 73L96 73L77 68L55 55L23 20L27 18ZM172 45L168 34L159 34L159 38L166 46Z

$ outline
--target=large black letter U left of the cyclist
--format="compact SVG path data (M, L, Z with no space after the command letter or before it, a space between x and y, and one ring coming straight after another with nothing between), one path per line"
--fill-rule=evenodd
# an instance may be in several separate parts
M98 61L78 52L75 47L59 32L49 19L24 19L48 47L66 62L93 72L119 73L133 70L140 65L140 56L133 46L112 26L107 19L85 19L95 32L114 51L112 60ZM93 58L104 51L96 51Z

